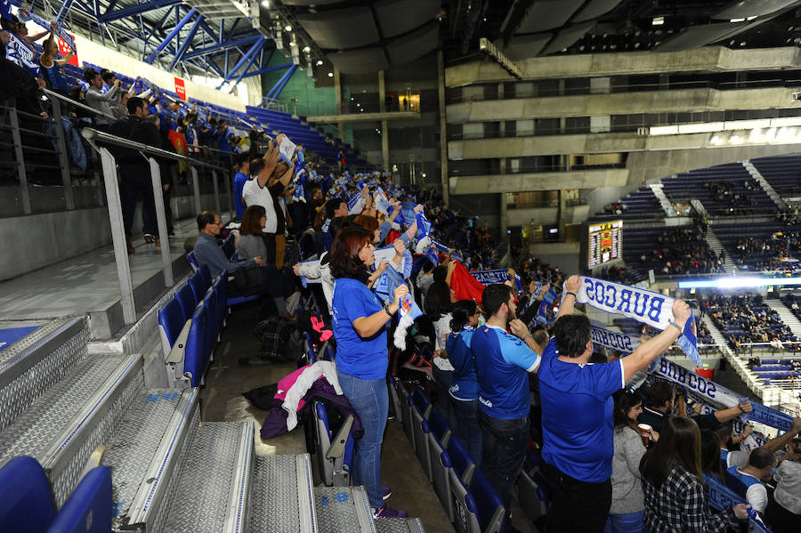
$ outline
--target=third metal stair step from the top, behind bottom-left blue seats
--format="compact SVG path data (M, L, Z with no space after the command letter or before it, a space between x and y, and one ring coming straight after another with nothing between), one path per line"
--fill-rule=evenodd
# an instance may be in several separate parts
M102 458L111 471L115 529L154 530L169 481L197 429L198 396L198 389L150 389L131 402Z

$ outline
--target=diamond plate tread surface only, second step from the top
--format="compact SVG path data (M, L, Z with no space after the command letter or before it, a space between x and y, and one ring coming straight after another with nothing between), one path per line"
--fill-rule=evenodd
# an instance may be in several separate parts
M82 359L0 432L0 464L14 456L38 458L44 453L126 357L102 354Z

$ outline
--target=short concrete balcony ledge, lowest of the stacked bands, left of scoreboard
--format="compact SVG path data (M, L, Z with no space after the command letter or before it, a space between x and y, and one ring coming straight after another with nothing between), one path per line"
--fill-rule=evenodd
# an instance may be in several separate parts
M450 194L458 195L622 187L627 181L627 168L605 168L570 172L459 176L449 178L449 186Z

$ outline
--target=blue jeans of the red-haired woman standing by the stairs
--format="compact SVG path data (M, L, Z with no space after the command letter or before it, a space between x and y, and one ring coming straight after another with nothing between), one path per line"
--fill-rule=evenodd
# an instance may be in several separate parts
M336 377L345 398L361 419L364 436L356 441L353 457L353 484L364 485L370 505L384 505L381 490L381 444L384 441L386 415L389 410L389 393L386 380L359 379L336 368Z

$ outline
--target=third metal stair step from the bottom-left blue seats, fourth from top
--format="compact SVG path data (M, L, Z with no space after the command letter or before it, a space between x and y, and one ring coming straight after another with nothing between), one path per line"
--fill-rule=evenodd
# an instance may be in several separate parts
M182 458L182 472L163 525L170 533L247 530L253 424L205 422Z

